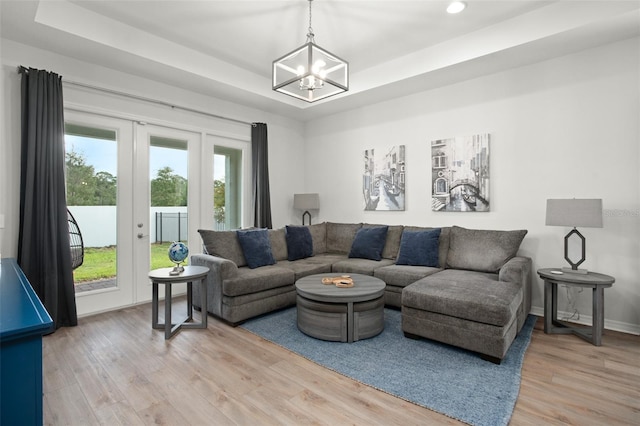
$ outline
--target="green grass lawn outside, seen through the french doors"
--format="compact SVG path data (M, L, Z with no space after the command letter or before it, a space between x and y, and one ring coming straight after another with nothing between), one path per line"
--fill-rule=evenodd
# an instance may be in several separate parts
M151 269L173 266L167 251L171 243L151 244ZM116 247L85 247L82 266L73 271L76 284L116 276Z

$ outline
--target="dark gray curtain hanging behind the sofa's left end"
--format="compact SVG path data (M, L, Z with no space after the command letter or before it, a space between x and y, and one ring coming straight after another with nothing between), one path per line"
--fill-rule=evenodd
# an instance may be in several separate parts
M267 142L267 125L265 123L251 125L251 168L255 213L253 226L271 229L273 225L271 224L271 194L269 192L269 143Z

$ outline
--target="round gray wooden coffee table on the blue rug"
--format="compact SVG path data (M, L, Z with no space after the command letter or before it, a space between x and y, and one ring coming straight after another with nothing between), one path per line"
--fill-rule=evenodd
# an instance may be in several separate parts
M348 275L353 287L323 284L322 278ZM355 342L384 329L384 281L361 274L327 273L296 281L298 328L322 340Z

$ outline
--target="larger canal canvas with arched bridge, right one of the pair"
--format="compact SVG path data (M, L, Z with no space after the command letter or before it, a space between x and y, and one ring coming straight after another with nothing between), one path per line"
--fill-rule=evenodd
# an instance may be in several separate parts
M489 211L489 134L431 142L431 210Z

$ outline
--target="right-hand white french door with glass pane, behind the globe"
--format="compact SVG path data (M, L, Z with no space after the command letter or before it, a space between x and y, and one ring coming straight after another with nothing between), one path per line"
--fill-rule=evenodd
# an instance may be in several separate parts
M172 242L181 241L190 250L199 250L193 235L197 235L198 218L194 220L194 215L198 210L192 212L189 207L189 199L193 199L190 192L194 189L197 195L199 187L199 141L197 133L136 123L137 301L151 299L150 270L174 266L167 254ZM184 289L174 286L174 290L178 294Z

